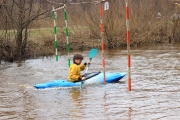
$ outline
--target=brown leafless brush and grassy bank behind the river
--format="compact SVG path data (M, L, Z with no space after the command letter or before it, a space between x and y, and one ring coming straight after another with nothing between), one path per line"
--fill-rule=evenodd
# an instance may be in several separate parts
M0 61L54 54L52 6L66 4L71 49L101 48L95 0L1 0ZM87 2L85 4L85 2ZM81 4L79 4L81 3ZM109 0L103 11L105 49L126 47L125 1ZM172 0L129 0L131 46L180 42L180 10ZM63 9L57 11L58 50L66 49Z

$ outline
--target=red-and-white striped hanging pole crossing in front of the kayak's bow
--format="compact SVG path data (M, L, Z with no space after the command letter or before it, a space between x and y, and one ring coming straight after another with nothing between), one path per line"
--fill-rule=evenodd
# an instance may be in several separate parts
M102 66L103 66L103 75L104 75L104 84L106 84L106 73L105 73L105 59L104 59L104 40L103 40L103 32L104 32L104 26L102 22L102 15L103 15L103 6L102 2L100 1L100 32L101 32L101 47L102 47Z

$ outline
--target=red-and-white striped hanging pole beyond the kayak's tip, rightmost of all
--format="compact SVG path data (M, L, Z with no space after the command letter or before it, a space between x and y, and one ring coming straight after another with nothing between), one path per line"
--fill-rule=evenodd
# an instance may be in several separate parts
M130 30L129 30L129 7L128 0L126 0L126 40L127 40L127 51L128 51L128 90L131 91L131 58L130 58Z

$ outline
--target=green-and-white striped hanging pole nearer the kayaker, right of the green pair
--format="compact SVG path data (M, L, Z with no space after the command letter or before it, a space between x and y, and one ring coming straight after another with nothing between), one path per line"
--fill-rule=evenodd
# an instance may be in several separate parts
M68 41L68 25L67 25L67 12L66 12L66 8L65 8L65 5L64 5L64 20L65 20L65 23L66 23L66 50L68 52L68 66L70 67L70 56L69 56L69 53L70 53L70 45L69 45L69 41Z

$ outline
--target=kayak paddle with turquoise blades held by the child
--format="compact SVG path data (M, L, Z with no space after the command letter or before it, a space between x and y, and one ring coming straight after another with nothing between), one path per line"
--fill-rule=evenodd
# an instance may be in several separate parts
M89 56L89 61L91 61L92 58L94 58L94 57L97 55L97 52L98 52L98 50L97 50L97 49L94 49L94 48L89 51L89 54L88 54L88 56ZM87 74L89 65L90 65L90 64L87 65L87 69L86 69L86 72L85 72L84 75ZM84 84L84 81L81 82L81 88L82 88L83 84Z

